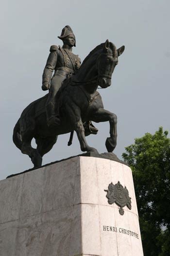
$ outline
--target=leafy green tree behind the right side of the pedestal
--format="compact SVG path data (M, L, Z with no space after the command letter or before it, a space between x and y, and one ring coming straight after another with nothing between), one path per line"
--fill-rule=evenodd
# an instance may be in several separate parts
M122 154L132 169L144 256L170 256L170 138L160 127Z

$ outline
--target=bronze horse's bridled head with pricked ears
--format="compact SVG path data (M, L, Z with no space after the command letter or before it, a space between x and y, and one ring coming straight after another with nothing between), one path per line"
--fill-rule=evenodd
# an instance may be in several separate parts
M124 46L118 50L116 46L108 40L105 41L102 53L99 55L96 65L98 70L98 85L102 88L107 88L111 85L112 73L115 66L118 64L118 57L124 52Z

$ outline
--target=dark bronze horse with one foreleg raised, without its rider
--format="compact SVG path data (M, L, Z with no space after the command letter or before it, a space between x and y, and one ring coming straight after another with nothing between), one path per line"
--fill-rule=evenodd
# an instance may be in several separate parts
M76 131L82 151L97 152L85 139L85 121L110 123L110 137L105 145L112 152L117 144L117 116L103 109L102 98L97 92L98 85L107 88L118 57L124 46L116 46L106 40L98 45L83 61L78 73L66 79L57 93L58 111L61 123L48 127L45 104L47 95L28 105L14 128L13 141L23 154L28 155L34 167L42 165L42 157L55 144L58 135ZM37 148L31 146L35 138Z

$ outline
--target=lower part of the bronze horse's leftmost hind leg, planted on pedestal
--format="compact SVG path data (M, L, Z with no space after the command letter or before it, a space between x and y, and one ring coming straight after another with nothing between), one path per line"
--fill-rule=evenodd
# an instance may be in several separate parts
M40 167L42 165L42 157L40 156L39 152L32 148L31 146L31 141L32 141L33 137L26 137L24 138L24 136L22 137L22 147L21 147L21 152L23 154L28 155L33 164L34 167Z

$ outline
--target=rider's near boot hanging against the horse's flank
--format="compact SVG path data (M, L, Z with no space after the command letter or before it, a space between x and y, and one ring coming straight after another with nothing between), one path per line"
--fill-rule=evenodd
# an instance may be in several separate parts
M50 104L46 105L46 114L47 114L47 125L48 126L60 124L60 118L58 115L56 115L56 112L54 110L54 105L52 104L52 102Z

